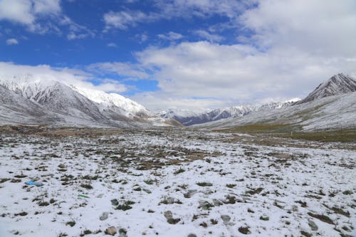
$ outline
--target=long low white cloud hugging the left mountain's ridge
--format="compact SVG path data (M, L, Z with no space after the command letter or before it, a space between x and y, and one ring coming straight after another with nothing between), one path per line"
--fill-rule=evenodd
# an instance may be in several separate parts
M104 90L106 92L122 93L126 86L110 79L98 79L83 70L70 68L53 68L49 65L16 65L14 63L0 62L0 77L11 78L14 75L31 74L35 79L56 80L67 85L75 85L79 88ZM90 81L95 80L95 85Z

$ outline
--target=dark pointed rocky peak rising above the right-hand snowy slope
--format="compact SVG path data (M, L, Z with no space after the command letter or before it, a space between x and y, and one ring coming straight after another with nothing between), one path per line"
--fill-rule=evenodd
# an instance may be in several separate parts
M316 99L340 95L345 93L350 93L356 91L356 80L350 77L350 75L344 75L342 73L333 75L325 83L318 85L312 93L310 93L306 98L296 102L296 105L310 102Z

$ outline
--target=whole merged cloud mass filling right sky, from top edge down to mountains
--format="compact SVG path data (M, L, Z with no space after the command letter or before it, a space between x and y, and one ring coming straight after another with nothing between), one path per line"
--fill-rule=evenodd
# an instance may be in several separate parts
M355 77L355 9L352 0L258 1L231 15L234 27L248 31L243 43L183 42L137 53L159 90L135 98L147 107L166 97L167 107L186 107L179 98L190 107L251 104L303 98L336 73Z

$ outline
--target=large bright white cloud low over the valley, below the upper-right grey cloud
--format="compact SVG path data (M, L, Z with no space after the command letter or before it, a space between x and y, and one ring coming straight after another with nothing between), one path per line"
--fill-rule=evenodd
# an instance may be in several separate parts
M216 98L206 100L206 105L221 100L232 100L237 105L265 98L303 97L335 73L356 75L356 58L324 58L293 48L260 52L241 44L224 46L201 41L147 48L137 57L145 67L158 68L152 78L159 81L160 90L150 94L157 98L157 104L162 95L203 98L197 100L199 106L204 98ZM137 98L150 107L145 99L140 100L139 95Z

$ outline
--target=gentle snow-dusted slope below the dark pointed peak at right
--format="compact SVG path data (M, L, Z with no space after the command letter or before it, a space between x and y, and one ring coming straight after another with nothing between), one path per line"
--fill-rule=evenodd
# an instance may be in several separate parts
M244 125L290 125L296 130L336 130L356 127L356 92L329 96L280 110L251 112L194 127L229 129Z

